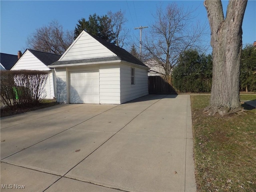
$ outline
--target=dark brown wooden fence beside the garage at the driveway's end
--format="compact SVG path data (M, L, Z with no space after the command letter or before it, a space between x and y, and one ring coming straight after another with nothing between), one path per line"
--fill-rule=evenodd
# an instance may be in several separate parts
M161 76L148 76L149 94L177 94L170 82L166 82Z

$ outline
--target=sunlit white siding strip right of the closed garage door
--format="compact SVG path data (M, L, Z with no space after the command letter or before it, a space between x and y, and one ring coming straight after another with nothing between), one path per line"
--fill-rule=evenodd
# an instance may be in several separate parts
M100 104L120 104L120 66L100 66Z

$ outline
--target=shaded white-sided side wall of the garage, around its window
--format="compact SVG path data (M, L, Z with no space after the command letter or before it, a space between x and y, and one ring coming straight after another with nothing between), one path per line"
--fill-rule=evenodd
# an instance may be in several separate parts
M121 103L148 95L148 70L135 68L135 84L131 84L131 66L120 66Z

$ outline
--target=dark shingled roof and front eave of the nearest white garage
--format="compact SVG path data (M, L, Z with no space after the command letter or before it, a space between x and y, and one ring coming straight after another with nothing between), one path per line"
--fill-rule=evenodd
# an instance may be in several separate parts
M130 54L128 51L124 50L123 48L120 48L110 42L107 42L106 40L103 40L99 37L96 37L92 34L89 34L88 32L83 31L82 33L87 33L88 35L92 36L96 41L98 41L100 44L105 46L108 50L116 54L116 56L108 56L108 57L97 57L97 58L86 58L86 59L79 59L79 60L64 60L64 61L57 61L51 64L52 66L58 66L58 65L66 65L66 64L79 64L79 63L91 63L91 62L104 62L104 61L115 61L115 60L123 60L126 62L134 63L140 66L147 67L144 63L142 63L140 60L138 60L136 57L134 57L132 54ZM80 36L78 36L79 38ZM76 40L75 40L76 42ZM75 43L74 42L74 43ZM71 45L72 46L72 45ZM64 53L65 54L65 53Z

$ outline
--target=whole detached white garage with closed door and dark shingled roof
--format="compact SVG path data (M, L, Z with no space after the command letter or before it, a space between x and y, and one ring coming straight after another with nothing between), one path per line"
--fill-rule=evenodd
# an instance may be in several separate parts
M85 31L50 67L56 72L57 102L122 104L148 94L148 67Z

